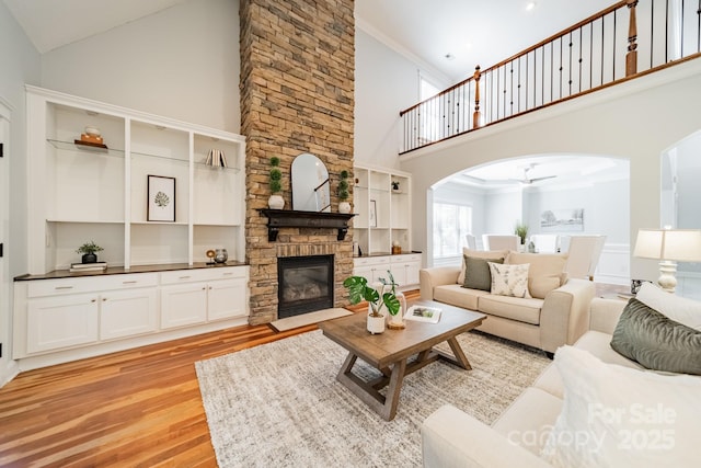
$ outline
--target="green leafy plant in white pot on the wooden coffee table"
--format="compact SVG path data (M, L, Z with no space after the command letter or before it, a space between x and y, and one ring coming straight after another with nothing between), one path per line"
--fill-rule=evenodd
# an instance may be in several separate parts
M364 276L350 276L343 282L343 285L348 289L348 299L350 304L358 304L361 300L368 301L368 323L367 329L370 333L382 333L384 331L384 313L382 307L387 308L391 316L397 316L402 312L402 303L398 298L395 292L395 283L391 272L387 272L390 276L388 283L384 278L379 278L379 283L374 286L368 285L368 281ZM390 290L386 290L387 287ZM401 316L400 316L401 321ZM403 323L402 323L403 324ZM392 328L404 328L392 327Z

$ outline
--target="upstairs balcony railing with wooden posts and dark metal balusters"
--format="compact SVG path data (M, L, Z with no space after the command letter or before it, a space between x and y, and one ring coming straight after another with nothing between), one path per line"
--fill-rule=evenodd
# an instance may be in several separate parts
M400 112L401 153L701 57L701 0L623 0Z

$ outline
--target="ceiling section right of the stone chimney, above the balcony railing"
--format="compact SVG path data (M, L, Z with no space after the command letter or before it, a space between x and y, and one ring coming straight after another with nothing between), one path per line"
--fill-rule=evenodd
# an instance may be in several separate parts
M358 25L451 83L516 55L614 0L355 0Z

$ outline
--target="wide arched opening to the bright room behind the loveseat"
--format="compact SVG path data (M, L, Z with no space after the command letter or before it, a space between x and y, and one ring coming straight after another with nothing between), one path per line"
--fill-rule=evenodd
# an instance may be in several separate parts
M630 278L630 163L595 155L537 155L467 168L430 190L428 247L433 265L456 264L469 230L481 248L483 233L607 236L597 281L625 285ZM545 226L545 213L579 212L583 220ZM459 232L456 236L456 231Z

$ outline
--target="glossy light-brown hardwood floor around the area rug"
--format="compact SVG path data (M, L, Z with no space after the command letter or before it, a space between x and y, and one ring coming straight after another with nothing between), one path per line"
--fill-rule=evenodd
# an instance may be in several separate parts
M216 467L194 363L317 328L237 327L22 373L0 389L0 467Z

